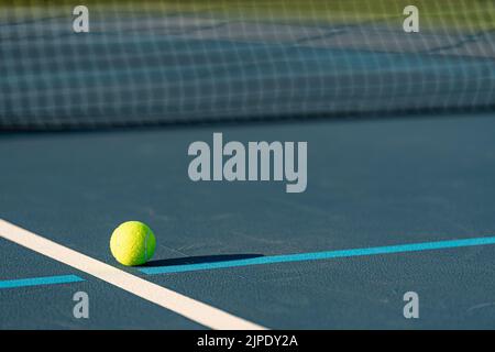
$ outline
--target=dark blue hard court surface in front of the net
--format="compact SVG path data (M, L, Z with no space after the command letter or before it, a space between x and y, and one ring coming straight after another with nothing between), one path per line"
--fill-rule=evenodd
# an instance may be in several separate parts
M280 183L193 183L187 147L226 140L308 141L308 189ZM490 238L495 229L495 121L458 116L213 125L0 140L0 212L119 266L116 224L140 219L158 245L152 267L295 253ZM0 289L2 328L201 328L179 315L0 241L2 280L81 282ZM352 252L351 252L352 254ZM495 245L406 251L146 275L267 328L493 328ZM194 267L193 267L194 268ZM90 319L72 316L90 297ZM420 319L403 317L403 295Z

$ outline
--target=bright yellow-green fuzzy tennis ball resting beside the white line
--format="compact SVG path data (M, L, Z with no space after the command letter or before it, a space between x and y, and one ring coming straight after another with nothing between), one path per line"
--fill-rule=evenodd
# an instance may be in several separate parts
M123 265L146 263L155 253L156 239L153 231L140 221L127 221L113 230L110 251Z

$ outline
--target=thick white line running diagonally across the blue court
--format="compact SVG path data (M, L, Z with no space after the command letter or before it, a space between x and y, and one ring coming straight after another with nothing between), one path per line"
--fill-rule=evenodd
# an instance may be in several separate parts
M0 219L0 237L98 277L205 327L219 330L266 329L70 250L2 219Z

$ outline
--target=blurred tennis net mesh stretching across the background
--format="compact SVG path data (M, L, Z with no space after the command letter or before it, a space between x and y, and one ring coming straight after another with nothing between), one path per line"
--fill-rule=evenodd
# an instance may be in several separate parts
M494 0L0 2L1 129L494 107Z

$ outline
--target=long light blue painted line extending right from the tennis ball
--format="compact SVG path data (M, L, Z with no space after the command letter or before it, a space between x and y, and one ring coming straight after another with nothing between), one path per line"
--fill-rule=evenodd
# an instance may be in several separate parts
M322 261L322 260L330 260L330 258L338 258L338 257L352 257L352 256L393 254L393 253L405 253L405 252L432 251L432 250L455 249L455 248L486 245L486 244L495 244L495 237L465 239L465 240L424 242L424 243L413 243L413 244L402 244L402 245L375 246L375 248L355 249L355 250L341 250L341 251L299 253L299 254L288 254L288 255L258 256L258 257L253 257L253 258L233 260L233 261L226 261L226 262L210 262L210 263L168 265L168 266L151 266L151 267L141 267L139 270L142 273L145 273L148 275L174 274L174 273L209 271L209 270L227 268L227 267L250 266L250 265Z

